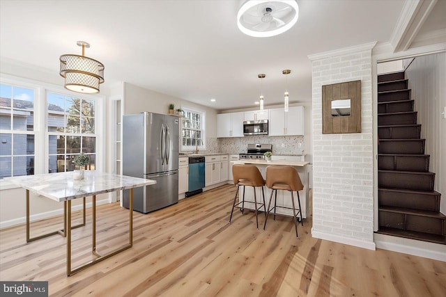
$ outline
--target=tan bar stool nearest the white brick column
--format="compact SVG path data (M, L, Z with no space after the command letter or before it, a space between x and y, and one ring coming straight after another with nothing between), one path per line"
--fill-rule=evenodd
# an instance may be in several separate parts
M295 170L295 168L291 166L273 166L273 165L268 166L266 168L266 186L268 186L268 188L271 188L272 191L270 195L270 202L268 203L268 211L266 214L265 225L263 225L263 230L265 230L266 228L266 221L268 220L268 215L270 214L270 211L272 209L274 209L274 219L276 218L277 207L282 209L293 209L295 236L299 237L298 214L300 214L300 222L302 223L302 226L304 225L302 220L302 211L301 211L302 208L300 207L299 191L303 190L304 185L300 181L298 172ZM293 207L277 206L277 190L289 191L291 193L291 203ZM294 205L295 204L293 196L294 191L298 193L299 209L297 213ZM271 208L273 193L275 193L274 207Z

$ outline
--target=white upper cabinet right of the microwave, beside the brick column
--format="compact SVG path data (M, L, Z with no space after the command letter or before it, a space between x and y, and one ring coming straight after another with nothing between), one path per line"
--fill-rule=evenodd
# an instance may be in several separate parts
M270 109L268 124L270 136L304 135L304 106L284 109Z

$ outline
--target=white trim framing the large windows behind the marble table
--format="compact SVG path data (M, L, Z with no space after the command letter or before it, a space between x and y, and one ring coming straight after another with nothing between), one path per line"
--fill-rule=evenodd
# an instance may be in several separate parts
M96 137L96 157L95 168L98 171L105 172L105 96L104 95L84 95L66 90L63 86L57 86L52 83L15 77L10 74L0 73L0 83L35 90L34 94L34 174L43 174L48 172L49 164L49 133L47 129L47 92L62 93L68 96L81 97L95 101L95 137ZM4 131L4 132L3 132ZM8 133L1 130L2 133ZM27 133L31 134L31 133ZM17 188L5 179L0 179L0 190L8 188Z

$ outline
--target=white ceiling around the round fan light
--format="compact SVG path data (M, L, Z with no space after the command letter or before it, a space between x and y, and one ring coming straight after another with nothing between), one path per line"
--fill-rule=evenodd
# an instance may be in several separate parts
M291 30L253 38L237 28L243 3L2 0L0 54L59 75L59 56L81 54L76 42L84 40L91 44L86 56L105 65L102 89L126 81L215 109L254 107L259 73L266 74L266 106L280 104L286 88L282 70L291 69L290 101L309 102L307 56L389 42L404 6L402 0L300 0L300 17Z

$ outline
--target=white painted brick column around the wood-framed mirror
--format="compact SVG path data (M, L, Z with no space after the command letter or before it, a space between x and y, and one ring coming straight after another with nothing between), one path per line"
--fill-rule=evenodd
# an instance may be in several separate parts
M322 55L312 58L312 63L312 230L335 238L373 242L371 49ZM322 134L322 86L356 80L361 80L361 133Z

